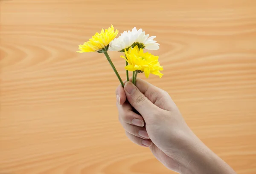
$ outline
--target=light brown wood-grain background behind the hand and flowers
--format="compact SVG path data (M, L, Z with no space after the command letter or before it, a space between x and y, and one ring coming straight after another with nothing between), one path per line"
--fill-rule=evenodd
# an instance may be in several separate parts
M76 53L111 24L157 36L164 76L148 81L238 174L256 173L255 0L0 0L0 24L0 174L174 174L125 137L104 55Z

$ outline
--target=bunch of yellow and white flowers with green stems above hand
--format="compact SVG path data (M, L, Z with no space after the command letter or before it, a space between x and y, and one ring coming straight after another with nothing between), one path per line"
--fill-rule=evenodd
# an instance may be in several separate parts
M134 27L132 31L124 31L115 39L117 34L118 30L115 31L113 25L108 29L102 29L100 33L96 33L88 42L79 45L80 51L77 52L104 53L122 86L124 86L124 83L119 73L116 71L108 55L108 51L125 53L125 55L121 57L125 59L126 78L127 81L129 81L128 71L132 71L132 83L134 83L134 85L136 85L138 73L144 72L147 78L149 74L155 74L160 78L162 77L163 74L160 71L163 70L163 66L160 66L158 56L144 52L144 49L159 49L159 44L154 40L156 36L149 37L149 34L145 34L145 31L142 29L137 30L136 27Z

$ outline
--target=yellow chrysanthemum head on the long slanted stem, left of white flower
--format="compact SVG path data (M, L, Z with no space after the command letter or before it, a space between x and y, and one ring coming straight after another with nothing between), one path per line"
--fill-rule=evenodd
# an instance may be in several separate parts
M104 52L108 51L109 43L116 37L118 30L114 30L113 25L108 29L102 29L100 33L96 33L93 38L89 39L83 45L79 45L79 53L84 52Z

